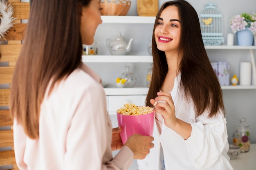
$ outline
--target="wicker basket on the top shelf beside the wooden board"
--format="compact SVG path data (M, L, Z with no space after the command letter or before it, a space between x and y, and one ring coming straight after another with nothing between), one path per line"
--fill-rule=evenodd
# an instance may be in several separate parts
M126 15L130 5L130 0L101 0L101 15Z

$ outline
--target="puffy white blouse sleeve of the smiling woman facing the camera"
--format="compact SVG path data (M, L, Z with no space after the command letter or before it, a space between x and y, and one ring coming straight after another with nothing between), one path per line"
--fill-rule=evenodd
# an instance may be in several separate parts
M226 123L222 113L211 118L208 113L203 113L191 123L191 136L184 142L195 168L211 167L219 159L227 144Z

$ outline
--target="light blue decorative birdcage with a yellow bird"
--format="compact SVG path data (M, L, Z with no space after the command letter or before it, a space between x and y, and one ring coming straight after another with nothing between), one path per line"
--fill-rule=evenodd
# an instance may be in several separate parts
M212 0L204 4L200 14L201 32L204 45L220 45L224 42L222 13L218 10L217 4Z

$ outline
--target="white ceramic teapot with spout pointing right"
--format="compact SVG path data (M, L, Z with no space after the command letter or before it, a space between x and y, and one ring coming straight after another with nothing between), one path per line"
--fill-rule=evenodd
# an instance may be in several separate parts
M131 51L132 48L131 38L128 43L126 43L124 37L121 36L121 32L118 32L118 36L115 39L108 38L106 40L106 46L108 47L111 55L126 55Z

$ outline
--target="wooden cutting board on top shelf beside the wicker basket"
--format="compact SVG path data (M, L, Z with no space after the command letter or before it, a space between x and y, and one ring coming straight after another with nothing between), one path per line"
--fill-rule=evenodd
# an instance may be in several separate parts
M137 0L137 13L139 16L156 16L158 0Z

